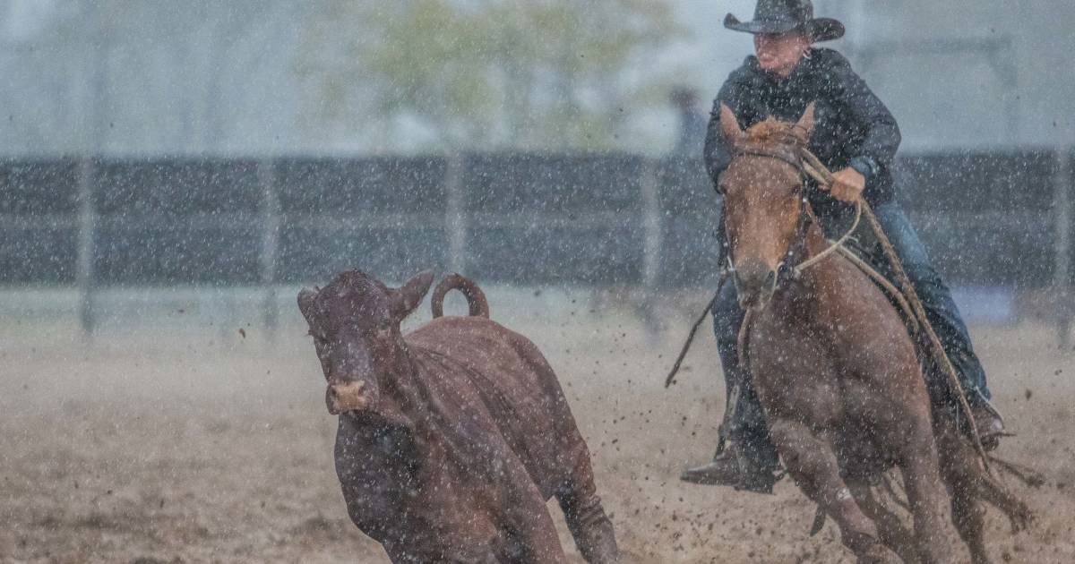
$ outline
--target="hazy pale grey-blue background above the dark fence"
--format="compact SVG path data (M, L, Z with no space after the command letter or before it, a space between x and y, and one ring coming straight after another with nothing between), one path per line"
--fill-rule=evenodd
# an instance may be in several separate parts
M397 16L412 4L433 5L443 14L426 21L412 45L386 46L383 28L411 25ZM649 26L626 46L594 47L622 50L601 72L558 73L556 62L541 59L546 52L522 53L529 40L557 41L531 33L525 18L508 32L521 38L512 44L521 45L518 50L485 43L506 25L503 16L481 25L470 18L497 4L513 2L5 0L0 2L0 110L6 116L0 154L367 155L457 148L661 154L674 144L678 127L671 89L696 88L707 111L728 72L751 49L749 35L720 26L729 11L748 18L750 0L616 0L588 4L607 9L585 10L549 1L544 4L583 10L589 18L579 21L584 31ZM1070 63L1075 3L1070 0L815 4L818 15L847 24L848 37L831 46L848 55L891 106L905 149L1075 142ZM631 13L631 5L642 5L643 15ZM658 14L663 6L668 14ZM427 49L421 41L435 40L438 29L453 41L471 42L447 50L449 59L463 60L459 71L436 61L432 67L442 74L435 76L401 77L397 68L386 77L370 70L371 59L383 60L377 57L386 50ZM461 29L475 37L468 40ZM530 72L526 67L535 60L545 67ZM391 63L415 67L405 58ZM519 69L529 81L518 90L524 105L511 93L511 84L518 83L511 77L521 76L512 72ZM461 101L424 103L428 90L414 82L439 85L478 75L485 83L456 85L469 97ZM457 102L465 107L454 106ZM510 116L520 112L512 107L527 115L513 121ZM446 125L445 115L459 119ZM484 119L471 118L476 115ZM589 136L573 136L557 119L586 124Z

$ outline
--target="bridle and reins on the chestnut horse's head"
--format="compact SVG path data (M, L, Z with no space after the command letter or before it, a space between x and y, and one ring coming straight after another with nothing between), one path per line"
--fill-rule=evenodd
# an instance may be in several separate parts
M801 147L798 144L792 147L766 147L752 144L735 145L732 148L732 156L774 159L791 167L799 173L800 183L796 185L793 192L796 198L800 201L799 219L796 225L796 232L791 244L788 246L788 250L784 255L784 259L776 265L776 275L773 277L772 281L773 292L778 290L786 281L798 279L804 270L821 262L821 260L826 257L838 250L838 248L842 247L858 229L859 221L862 217L861 199L856 202L855 221L851 225L851 228L821 252L815 255L814 257L803 258L806 254L806 231L809 229L811 223L817 221L817 217L814 215L814 211L809 206L809 200L806 197L806 178L812 177L822 185L831 185L831 178L823 177L814 165L814 163L819 162L817 157L815 157L808 149ZM718 191L720 191L719 188ZM728 245L727 252L725 254L728 262L725 269L725 276L731 276L733 283L736 285L735 289L737 291L739 277L734 276L735 260L732 256L731 238L728 236L727 232L728 223L723 223L725 244Z

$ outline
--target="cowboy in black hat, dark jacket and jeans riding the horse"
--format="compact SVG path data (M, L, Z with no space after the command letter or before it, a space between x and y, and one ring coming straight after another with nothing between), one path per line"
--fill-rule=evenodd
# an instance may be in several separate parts
M794 121L816 102L808 149L836 172L828 191L815 183L808 185L811 206L830 236L850 223L854 205L849 202L861 196L873 207L959 374L984 443L995 445L1004 423L989 403L986 375L966 326L894 198L892 161L901 141L895 119L847 59L813 46L843 37L843 24L815 18L809 0L759 0L754 20L740 21L728 14L725 27L752 33L756 56L747 57L731 73L713 104L704 157L714 184L732 158L720 134L721 103L747 128L770 116ZM718 232L723 240L723 229ZM721 246L727 250L727 241ZM727 438L728 448L718 447L713 462L685 471L680 479L771 493L779 461L749 374L739 366L736 341L743 317L735 289L727 285L714 303L713 320L730 397L720 430L721 445Z

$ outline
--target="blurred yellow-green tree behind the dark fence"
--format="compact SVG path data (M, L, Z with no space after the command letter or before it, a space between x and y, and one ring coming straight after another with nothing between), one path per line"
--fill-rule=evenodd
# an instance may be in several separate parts
M306 119L384 135L417 118L452 148L613 147L651 90L625 88L626 70L683 32L672 3L325 0L299 54Z

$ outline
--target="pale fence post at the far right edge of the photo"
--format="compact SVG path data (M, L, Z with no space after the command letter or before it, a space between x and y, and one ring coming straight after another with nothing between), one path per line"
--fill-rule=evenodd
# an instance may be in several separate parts
M1072 316L1070 305L1072 266L1072 147L1057 151L1056 178L1054 180L1054 207L1056 209L1056 244L1054 251L1052 285L1060 300L1057 307L1057 345L1067 349L1070 345Z

